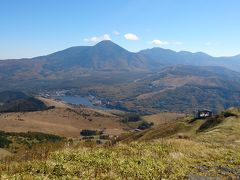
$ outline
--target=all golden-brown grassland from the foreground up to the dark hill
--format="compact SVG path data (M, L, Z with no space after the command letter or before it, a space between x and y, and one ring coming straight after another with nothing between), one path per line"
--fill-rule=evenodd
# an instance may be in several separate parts
M195 119L38 98L54 108L0 114L1 179L239 178L239 108Z

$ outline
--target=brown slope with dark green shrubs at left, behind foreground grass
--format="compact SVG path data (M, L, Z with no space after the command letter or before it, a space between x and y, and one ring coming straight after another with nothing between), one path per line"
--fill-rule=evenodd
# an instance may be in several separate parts
M0 131L0 160L10 162L27 160L63 147L66 138L40 132ZM44 155L44 154L42 154ZM42 156L41 155L41 156Z

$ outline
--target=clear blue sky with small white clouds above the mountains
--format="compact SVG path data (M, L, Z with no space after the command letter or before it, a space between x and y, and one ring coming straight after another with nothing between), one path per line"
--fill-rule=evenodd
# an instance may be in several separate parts
M239 0L2 0L0 59L111 39L136 52L162 47L240 54Z

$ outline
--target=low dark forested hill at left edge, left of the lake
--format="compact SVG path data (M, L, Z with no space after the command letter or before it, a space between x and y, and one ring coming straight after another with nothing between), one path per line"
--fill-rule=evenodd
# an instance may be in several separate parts
M29 112L46 109L48 107L42 101L22 92L0 92L0 112Z

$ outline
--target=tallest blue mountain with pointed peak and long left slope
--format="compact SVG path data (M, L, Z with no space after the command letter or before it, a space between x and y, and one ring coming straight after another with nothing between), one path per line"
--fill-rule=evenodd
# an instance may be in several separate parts
M95 71L146 71L144 56L111 41L78 46L32 59L0 61L0 80L56 80L78 78ZM7 85L7 84L6 84Z

